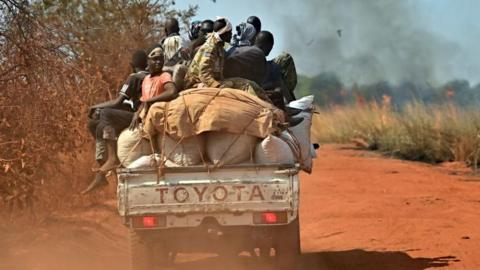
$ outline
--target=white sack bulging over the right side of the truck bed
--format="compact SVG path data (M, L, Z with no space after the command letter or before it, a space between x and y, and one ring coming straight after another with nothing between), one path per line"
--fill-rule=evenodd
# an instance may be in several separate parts
M290 132L298 140L300 144L300 165L302 169L307 172L312 172L312 143L310 141L310 130L312 127L312 106L313 95L303 97L299 100L294 100L288 104L288 106L300 110L304 110L299 113L298 117L303 117L303 121L289 128Z

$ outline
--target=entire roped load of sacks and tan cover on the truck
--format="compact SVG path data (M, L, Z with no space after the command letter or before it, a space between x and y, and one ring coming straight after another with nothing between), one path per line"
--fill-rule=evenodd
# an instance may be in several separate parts
M299 163L311 172L312 104L313 96L292 102L289 106L301 109L304 121L280 130L283 112L255 96L235 89L187 90L152 105L143 117L143 133L124 131L118 157L128 168ZM159 155L152 155L154 144Z

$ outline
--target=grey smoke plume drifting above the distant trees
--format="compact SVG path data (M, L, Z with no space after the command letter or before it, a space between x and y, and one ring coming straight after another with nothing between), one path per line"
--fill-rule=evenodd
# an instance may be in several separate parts
M334 72L346 83L437 83L455 73L459 45L429 31L415 1L268 2L301 73Z

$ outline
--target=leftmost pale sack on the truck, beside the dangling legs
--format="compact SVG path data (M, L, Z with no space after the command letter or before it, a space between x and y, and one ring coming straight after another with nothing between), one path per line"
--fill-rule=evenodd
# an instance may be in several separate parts
M117 156L124 167L139 157L151 154L150 142L142 137L140 129L125 129L117 140Z

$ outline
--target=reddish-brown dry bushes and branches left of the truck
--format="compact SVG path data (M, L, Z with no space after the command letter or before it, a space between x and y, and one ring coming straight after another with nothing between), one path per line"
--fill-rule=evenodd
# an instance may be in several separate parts
M132 53L161 40L165 17L187 22L195 11L170 0L0 0L0 213L82 200L88 107L117 95Z

